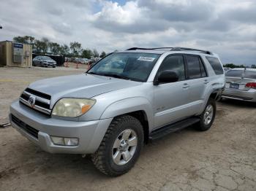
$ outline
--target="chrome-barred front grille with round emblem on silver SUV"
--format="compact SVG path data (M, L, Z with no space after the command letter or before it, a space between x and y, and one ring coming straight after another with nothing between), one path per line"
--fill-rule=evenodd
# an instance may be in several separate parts
M29 103L29 98L34 98L34 104ZM50 95L41 93L37 90L26 88L20 95L20 103L29 106L29 108L37 110L37 112L43 113L50 117Z

